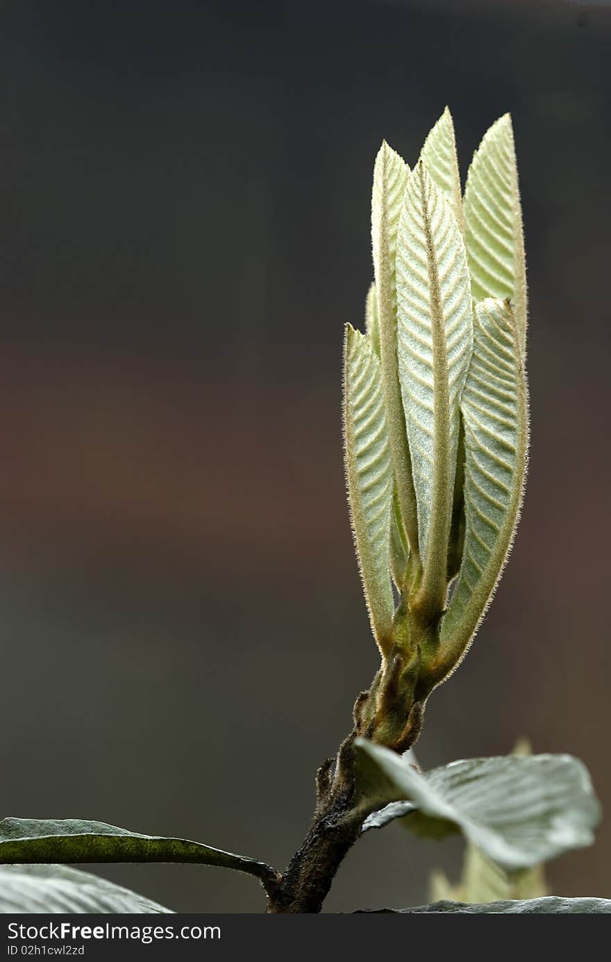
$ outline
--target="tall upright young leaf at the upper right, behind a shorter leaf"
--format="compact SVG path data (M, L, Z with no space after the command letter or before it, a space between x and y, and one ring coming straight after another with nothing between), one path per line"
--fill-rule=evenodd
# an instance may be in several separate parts
M465 237L476 301L511 299L526 341L526 264L514 133L509 114L499 117L473 155L465 188Z

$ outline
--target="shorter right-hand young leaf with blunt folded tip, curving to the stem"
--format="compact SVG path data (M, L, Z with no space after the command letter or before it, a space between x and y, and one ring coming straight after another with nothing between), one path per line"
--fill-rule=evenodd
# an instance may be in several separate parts
M473 340L461 400L465 544L441 628L445 670L453 668L466 651L495 591L520 516L526 470L526 387L516 325L507 303L487 299L476 306Z

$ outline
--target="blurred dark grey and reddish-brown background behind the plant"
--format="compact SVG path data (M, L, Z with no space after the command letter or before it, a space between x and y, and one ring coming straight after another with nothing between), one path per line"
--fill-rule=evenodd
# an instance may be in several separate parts
M5 2L0 13L1 810L283 867L376 650L344 501L340 364L382 138L460 162L511 111L532 452L511 563L432 696L424 768L581 757L606 808L555 894L611 897L611 16L570 3ZM427 899L461 845L396 826L328 911ZM263 909L198 866L101 873Z

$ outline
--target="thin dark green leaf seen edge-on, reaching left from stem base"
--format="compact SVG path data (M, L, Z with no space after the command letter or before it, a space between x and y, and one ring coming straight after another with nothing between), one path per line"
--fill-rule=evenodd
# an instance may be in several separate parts
M80 819L3 819L0 864L50 862L194 862L275 878L264 862L187 839L141 835Z

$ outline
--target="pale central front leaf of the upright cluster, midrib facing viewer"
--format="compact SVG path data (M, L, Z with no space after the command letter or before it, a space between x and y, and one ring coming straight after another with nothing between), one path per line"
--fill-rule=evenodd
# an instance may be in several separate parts
M465 244L444 193L419 162L396 243L398 366L418 501L422 595L443 606L459 399L472 350Z

